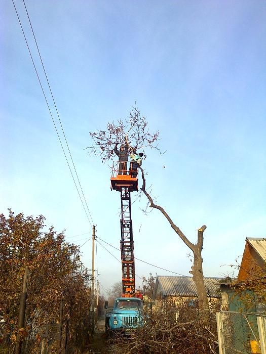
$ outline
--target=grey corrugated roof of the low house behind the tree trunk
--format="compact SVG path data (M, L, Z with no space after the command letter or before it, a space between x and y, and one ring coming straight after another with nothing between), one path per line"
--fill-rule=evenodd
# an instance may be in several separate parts
M210 297L218 297L221 278L204 278L204 285ZM192 277L157 276L157 293L162 296L198 296Z

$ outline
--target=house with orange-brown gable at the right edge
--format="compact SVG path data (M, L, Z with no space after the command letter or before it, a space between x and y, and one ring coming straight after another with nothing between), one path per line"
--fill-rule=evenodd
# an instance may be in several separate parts
M217 325L220 344L230 352L265 352L266 238L246 238L236 281L221 283L222 309ZM264 345L264 344L263 344ZM228 349L227 349L228 350ZM226 351L227 352L227 351ZM228 351L229 352L229 351Z

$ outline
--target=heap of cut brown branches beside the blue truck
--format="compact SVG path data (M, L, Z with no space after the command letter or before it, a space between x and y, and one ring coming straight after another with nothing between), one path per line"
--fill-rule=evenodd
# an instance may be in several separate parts
M205 323L197 309L183 309L184 320L175 321L176 306L150 314L143 327L132 332L130 339L117 336L112 350L117 354L216 354L215 314ZM210 317L211 318L211 317Z

